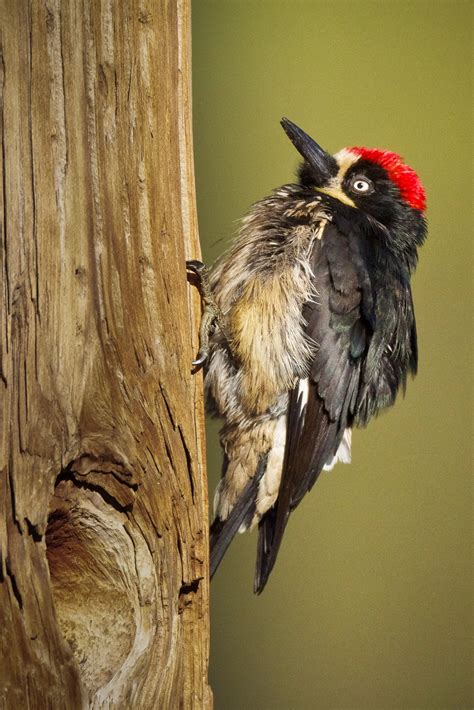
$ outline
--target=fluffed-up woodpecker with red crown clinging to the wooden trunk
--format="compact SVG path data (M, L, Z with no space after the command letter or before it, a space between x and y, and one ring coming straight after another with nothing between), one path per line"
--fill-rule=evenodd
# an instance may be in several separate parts
M224 420L211 576L237 531L258 527L257 594L290 514L416 374L410 280L427 233L425 190L398 154L332 155L281 125L297 180L253 205L215 266L188 262L205 305L193 364Z

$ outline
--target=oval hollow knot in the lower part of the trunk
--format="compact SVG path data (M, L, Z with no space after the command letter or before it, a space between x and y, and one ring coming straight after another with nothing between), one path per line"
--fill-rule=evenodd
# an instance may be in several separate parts
M58 475L46 546L56 616L90 700L125 685L156 633L155 566L117 461L85 454Z

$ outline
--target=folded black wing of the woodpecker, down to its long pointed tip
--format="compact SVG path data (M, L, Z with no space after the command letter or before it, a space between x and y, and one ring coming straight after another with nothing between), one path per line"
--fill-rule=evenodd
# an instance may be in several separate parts
M259 524L254 590L272 571L292 510L331 460L354 417L361 370L375 325L372 285L360 239L329 224L314 245L315 302L304 308L306 332L316 344L307 382L290 393L285 460L278 499Z

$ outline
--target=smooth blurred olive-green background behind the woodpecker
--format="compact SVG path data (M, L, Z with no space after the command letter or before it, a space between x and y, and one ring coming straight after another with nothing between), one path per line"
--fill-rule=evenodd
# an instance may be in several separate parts
M401 153L428 193L414 279L419 375L358 431L288 526L261 597L256 535L212 584L217 710L472 708L470 2L195 0L205 260L291 181L281 116L325 148ZM211 490L218 424L209 425Z

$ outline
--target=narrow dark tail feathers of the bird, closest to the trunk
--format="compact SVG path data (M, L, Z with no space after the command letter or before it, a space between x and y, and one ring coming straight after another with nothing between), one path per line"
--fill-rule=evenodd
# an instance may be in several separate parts
M211 579L238 529L247 518L249 512L252 511L252 508L255 507L258 486L266 467L267 456L265 455L260 458L255 476L247 483L229 517L226 520L216 518L211 525Z

